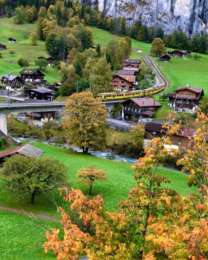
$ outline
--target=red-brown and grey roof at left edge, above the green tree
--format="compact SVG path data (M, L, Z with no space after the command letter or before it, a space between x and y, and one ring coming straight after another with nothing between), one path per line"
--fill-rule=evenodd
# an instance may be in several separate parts
M28 157L31 157L31 156L40 157L44 153L44 151L35 146L32 146L30 144L24 144L24 145L17 146L10 150L0 153L0 158L15 154L15 153L19 153L21 155L25 155Z

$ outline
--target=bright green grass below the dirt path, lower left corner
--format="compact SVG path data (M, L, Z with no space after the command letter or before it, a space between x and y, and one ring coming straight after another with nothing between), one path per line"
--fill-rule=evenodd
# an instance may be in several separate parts
M47 240L37 223L22 214L0 211L1 259L56 259L53 251L45 256L42 244ZM59 223L39 220L50 228L60 228ZM37 249L35 249L37 248Z

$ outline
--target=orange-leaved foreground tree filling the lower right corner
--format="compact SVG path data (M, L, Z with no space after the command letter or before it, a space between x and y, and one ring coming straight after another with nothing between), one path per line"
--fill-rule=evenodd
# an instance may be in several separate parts
M128 198L118 204L120 210L104 211L101 195L89 200L80 190L60 189L60 194L64 192L64 201L68 200L71 209L78 210L79 219L83 218L85 225L92 225L96 233L91 236L81 231L58 207L65 236L61 239L56 229L47 232L48 241L43 244L45 252L52 249L59 259L79 258L83 252L90 259L108 259L109 256L112 259L207 259L207 116L199 112L197 133L194 139L190 138L200 150L196 155L200 159L188 151L188 158L179 161L189 168L189 181L195 179L200 193L203 189L203 199L196 193L178 194L168 188L168 179L157 174L158 166L177 153L170 148L170 137L178 133L181 123L174 124L174 120L169 119L164 125L166 136L154 138L151 146L146 148L145 156L131 167L136 171L137 185L131 189ZM202 175L204 185L201 185Z

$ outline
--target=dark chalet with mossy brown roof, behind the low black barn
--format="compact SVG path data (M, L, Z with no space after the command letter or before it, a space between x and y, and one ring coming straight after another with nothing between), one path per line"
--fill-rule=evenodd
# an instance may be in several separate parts
M39 69L23 68L20 72L21 78L33 86L44 86L47 81L44 79L44 74Z

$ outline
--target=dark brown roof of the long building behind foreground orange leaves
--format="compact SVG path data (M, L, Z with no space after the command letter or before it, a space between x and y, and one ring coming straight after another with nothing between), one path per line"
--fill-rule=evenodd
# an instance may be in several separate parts
M150 122L150 123L147 123L145 125L145 130L146 131L153 131L153 132L157 132L157 133L166 133L166 131L168 129L163 128L162 124ZM181 132L181 130L183 131L183 133ZM183 137L187 138L188 136L192 136L196 133L196 129L194 129L194 128L181 127L181 130L178 130L178 134L174 133L173 135L183 136Z

